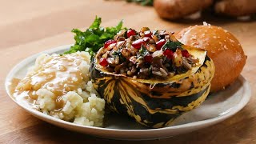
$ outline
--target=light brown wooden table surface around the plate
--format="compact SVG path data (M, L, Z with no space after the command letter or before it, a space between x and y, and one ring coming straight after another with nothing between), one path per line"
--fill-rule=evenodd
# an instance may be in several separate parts
M115 26L121 19L126 27L178 31L197 22L168 22L154 8L121 1L102 0L23 0L2 1L0 5L0 143L113 142L63 130L34 118L7 96L6 74L23 58L55 46L74 43L73 28L86 28L95 15L103 26ZM256 22L238 22L225 18L206 18L212 25L222 26L241 42L247 62L242 75L250 82L252 98L238 114L217 125L173 138L143 141L150 143L256 143ZM128 143L128 142L124 142ZM141 142L135 142L141 143Z

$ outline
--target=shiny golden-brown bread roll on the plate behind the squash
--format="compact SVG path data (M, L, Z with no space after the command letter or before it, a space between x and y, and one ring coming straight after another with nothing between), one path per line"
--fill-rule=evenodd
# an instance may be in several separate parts
M174 34L185 45L207 50L215 65L211 92L234 82L246 64L246 55L238 39L218 26L190 26Z

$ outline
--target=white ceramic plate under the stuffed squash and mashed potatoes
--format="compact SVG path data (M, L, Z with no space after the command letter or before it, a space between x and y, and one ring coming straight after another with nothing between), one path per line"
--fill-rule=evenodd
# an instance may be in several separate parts
M42 53L47 54L62 54L68 50L70 46L60 46L53 50L47 50ZM40 53L40 54L42 54ZM33 114L35 117L49 122L56 126L63 127L68 130L74 130L83 134L91 134L103 138L115 139L154 139L166 138L178 134L184 134L193 130L198 130L206 126L214 125L218 122L230 118L241 110L250 100L251 90L246 79L240 76L231 86L216 94L211 94L206 102L203 102L197 109L183 114L174 121L174 126L164 127L160 129L147 129L144 126L138 125L130 118L122 117L116 114L106 114L105 126L78 126L71 122L65 122L58 118L50 117L46 114L32 109L25 102L16 101L8 90L8 85L12 78L23 78L26 70L34 65L35 59L39 54L35 54L30 58L26 58L22 62L14 66L13 70L6 77L6 91L10 98L21 106L24 110Z

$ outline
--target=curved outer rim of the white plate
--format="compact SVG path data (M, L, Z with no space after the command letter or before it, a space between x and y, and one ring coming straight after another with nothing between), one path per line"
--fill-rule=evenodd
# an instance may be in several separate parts
M15 66L13 66L12 69L9 71L9 73L6 75L6 79L5 79L5 89L6 89L6 93L8 94L9 98L11 98L12 101L14 101L22 109L26 110L30 114L33 114L37 118L40 117L40 119L46 118L47 120L58 122L59 124L65 124L68 126L74 126L74 127L79 127L79 128L86 128L86 129L93 129L93 130L104 130L106 132L117 131L117 132L124 132L124 133L140 133L140 134L144 133L144 132L150 132L150 131L158 132L158 131L162 131L162 130L163 131L179 130L179 129L184 129L184 128L188 128L188 127L201 126L201 125L206 125L206 124L208 124L209 126L212 126L212 125L214 125L218 122L224 121L226 118L230 118L234 114L238 113L238 111L242 110L242 108L244 106L246 106L246 104L250 101L250 97L251 97L250 84L248 81L246 81L246 78L244 78L242 75L239 75L238 81L242 82L242 87L244 88L244 91L246 91L246 94L243 93L243 95L246 95L246 96L243 96L241 101L239 102L238 106L234 106L228 113L223 114L221 116L214 117L214 118L197 121L197 122L189 122L189 123L185 123L185 124L181 124L181 125L177 125L177 126L167 126L167 127L162 127L162 128L158 128L158 129L145 129L145 130L144 129L143 130L141 130L141 129L140 130L135 130L135 129L134 130L126 130L126 129L113 129L113 128L105 128L105 127L97 127L97 126L81 126L78 124L74 124L72 122L66 122L64 120L51 117L50 115L43 114L42 112L40 112L38 110L34 110L34 109L30 108L29 106L23 106L20 102L17 102L15 100L15 98L10 94L8 85L10 83L10 79L14 77L14 72L17 71L17 69L21 67L19 65L22 64L23 62L34 61L35 58L37 58L38 55L40 55L40 54L53 54L54 52L69 49L70 46L73 46L73 44L58 46L53 49L44 50L37 54L32 54L28 58L23 59L21 62L18 62ZM45 120L43 120L43 121L45 121ZM76 131L78 131L78 130L76 130Z

